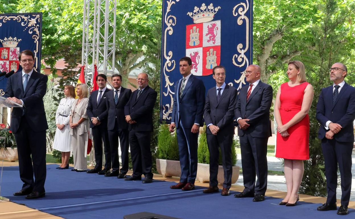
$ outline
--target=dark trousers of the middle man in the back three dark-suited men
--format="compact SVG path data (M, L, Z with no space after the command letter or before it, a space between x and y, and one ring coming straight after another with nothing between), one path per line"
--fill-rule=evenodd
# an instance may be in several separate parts
M128 149L129 149L129 131L119 129L119 125L115 122L113 130L109 130L109 140L111 148L112 171L118 171L120 161L118 156L118 140L120 139L122 168L120 173L126 174L128 171Z

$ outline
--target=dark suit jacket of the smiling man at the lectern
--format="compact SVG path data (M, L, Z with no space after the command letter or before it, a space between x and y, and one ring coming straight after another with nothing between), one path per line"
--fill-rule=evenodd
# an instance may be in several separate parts
M43 104L43 97L47 92L47 81L47 75L33 71L31 77L28 79L26 90L23 91L22 71L16 72L9 77L4 97L22 99L24 104L23 110L22 108L13 108L12 110L10 126L12 132L16 133L18 127L20 127L23 112L28 124L34 131L38 132L48 129Z

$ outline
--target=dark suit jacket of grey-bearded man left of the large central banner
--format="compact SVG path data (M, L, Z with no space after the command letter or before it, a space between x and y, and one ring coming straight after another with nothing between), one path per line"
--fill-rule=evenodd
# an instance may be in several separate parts
M135 90L125 105L125 116L130 115L137 123L129 124L128 130L153 131L153 108L157 100L157 92L147 85L137 99L138 89Z

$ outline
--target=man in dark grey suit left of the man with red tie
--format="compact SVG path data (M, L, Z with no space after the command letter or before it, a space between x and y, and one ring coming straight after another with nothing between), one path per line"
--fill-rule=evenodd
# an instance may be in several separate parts
M237 101L237 89L226 84L225 68L213 68L216 86L208 90L204 105L204 120L207 124L207 145L209 150L209 187L203 193L218 192L218 158L222 153L224 182L221 195L228 196L232 180L232 150L234 136L234 109Z

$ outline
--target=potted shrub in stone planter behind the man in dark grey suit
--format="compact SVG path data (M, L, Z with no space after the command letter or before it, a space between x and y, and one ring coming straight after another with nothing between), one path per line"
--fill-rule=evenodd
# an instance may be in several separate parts
M207 136L206 136L206 125L203 127L203 130L200 130L200 135L198 137L198 148L197 148L197 176L196 179L200 182L209 182L209 150L207 146ZM233 138L232 144L232 184L234 184L239 178L240 167L235 166L237 163L236 147L237 140ZM224 171L222 166L222 154L219 149L219 166L218 166L218 175L217 180L219 184L223 184L224 181Z

